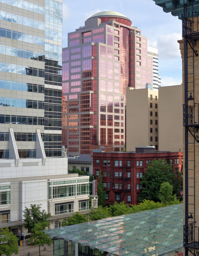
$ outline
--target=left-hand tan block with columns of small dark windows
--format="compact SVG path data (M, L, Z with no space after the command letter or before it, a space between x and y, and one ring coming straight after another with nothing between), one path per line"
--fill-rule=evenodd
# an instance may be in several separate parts
M158 150L158 92L126 88L126 151L141 146Z

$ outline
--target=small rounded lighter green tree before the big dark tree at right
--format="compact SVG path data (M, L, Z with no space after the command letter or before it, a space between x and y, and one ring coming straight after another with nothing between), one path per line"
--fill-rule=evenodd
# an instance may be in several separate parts
M160 186L159 199L161 202L167 204L174 200L175 195L173 193L173 186L169 182L163 182Z

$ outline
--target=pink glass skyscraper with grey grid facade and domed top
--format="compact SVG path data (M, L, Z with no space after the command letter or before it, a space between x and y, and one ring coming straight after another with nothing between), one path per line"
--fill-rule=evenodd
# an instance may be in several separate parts
M122 150L126 87L153 86L147 38L129 18L103 11L68 33L62 54L62 144L68 154L91 154L100 146Z

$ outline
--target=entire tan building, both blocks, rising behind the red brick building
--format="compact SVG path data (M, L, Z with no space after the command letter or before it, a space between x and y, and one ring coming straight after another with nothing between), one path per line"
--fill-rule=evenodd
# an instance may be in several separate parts
M182 151L182 122L182 85L160 87L158 92L127 88L127 151L141 146Z

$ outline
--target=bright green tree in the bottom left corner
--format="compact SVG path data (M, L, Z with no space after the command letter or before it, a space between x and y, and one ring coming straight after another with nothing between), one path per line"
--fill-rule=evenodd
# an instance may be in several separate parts
M10 256L13 253L18 254L18 251L17 236L9 231L8 227L0 229L0 256L3 254L6 256Z

